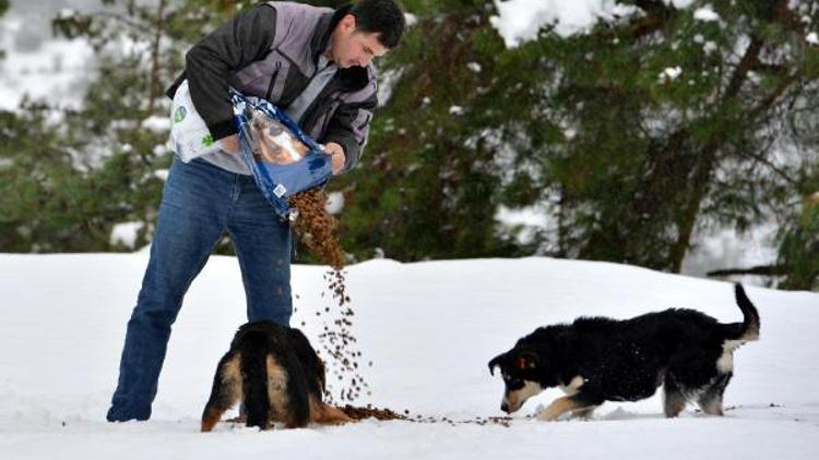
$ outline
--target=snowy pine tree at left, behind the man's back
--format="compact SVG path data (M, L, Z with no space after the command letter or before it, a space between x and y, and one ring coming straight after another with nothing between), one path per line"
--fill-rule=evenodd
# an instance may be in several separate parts
M62 110L55 101L4 118L11 167L1 171L3 185L29 191L31 199L0 202L9 228L3 251L131 250L110 241L112 227L127 221L143 225L138 246L150 242L173 156L164 89L190 45L251 2L102 3L108 8L100 12L54 20L57 35L87 40L96 51L98 73L82 107Z

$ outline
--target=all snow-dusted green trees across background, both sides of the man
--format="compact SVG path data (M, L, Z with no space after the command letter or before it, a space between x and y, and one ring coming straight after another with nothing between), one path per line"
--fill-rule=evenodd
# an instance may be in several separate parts
M82 108L59 123L45 107L2 114L2 251L110 250L122 221L144 222L147 243L170 153L145 120L166 117L189 47L254 2L103 3L118 8L54 23L97 50ZM819 2L620 3L643 14L507 48L492 0L404 0L416 21L378 62L390 97L359 168L331 183L345 250L678 271L696 231L775 219L783 286L816 287L819 46L806 35ZM719 21L695 17L705 4ZM550 225L521 239L502 207Z

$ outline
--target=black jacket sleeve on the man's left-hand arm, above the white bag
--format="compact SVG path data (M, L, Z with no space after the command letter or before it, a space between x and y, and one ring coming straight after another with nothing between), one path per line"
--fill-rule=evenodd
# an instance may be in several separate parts
M186 55L191 100L214 140L236 134L228 77L268 53L275 26L276 10L262 4L237 14Z

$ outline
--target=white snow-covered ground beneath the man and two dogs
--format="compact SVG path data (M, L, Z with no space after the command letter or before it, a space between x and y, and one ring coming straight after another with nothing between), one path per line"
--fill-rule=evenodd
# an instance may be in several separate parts
M529 401L511 426L365 421L258 432L198 433L215 364L244 320L238 264L212 257L175 326L154 416L104 421L124 325L146 254L0 254L2 459L807 459L819 441L819 294L748 288L762 335L736 352L724 417L688 408L661 416L660 397L607 402L589 422L527 419L558 396ZM294 267L298 312L316 343L324 269ZM696 307L740 318L731 285L630 266L550 258L349 267L354 334L372 360L358 404L470 420L501 415L502 384L486 363L538 325L579 315L629 317ZM814 453L810 453L814 452Z

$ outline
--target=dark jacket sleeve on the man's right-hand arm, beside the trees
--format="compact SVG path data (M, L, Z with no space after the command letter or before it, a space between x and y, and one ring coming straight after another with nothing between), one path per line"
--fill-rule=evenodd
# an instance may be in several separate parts
M365 100L342 104L330 119L327 132L320 142L323 144L334 142L344 148L345 159L342 172L353 169L361 158L376 106L378 106L378 97L373 81L371 94Z

